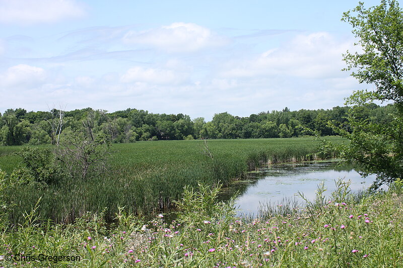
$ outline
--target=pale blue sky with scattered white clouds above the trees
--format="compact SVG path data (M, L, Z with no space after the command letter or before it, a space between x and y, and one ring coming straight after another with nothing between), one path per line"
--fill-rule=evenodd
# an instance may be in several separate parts
M366 7L379 5L365 1ZM331 109L358 1L0 0L0 112Z

